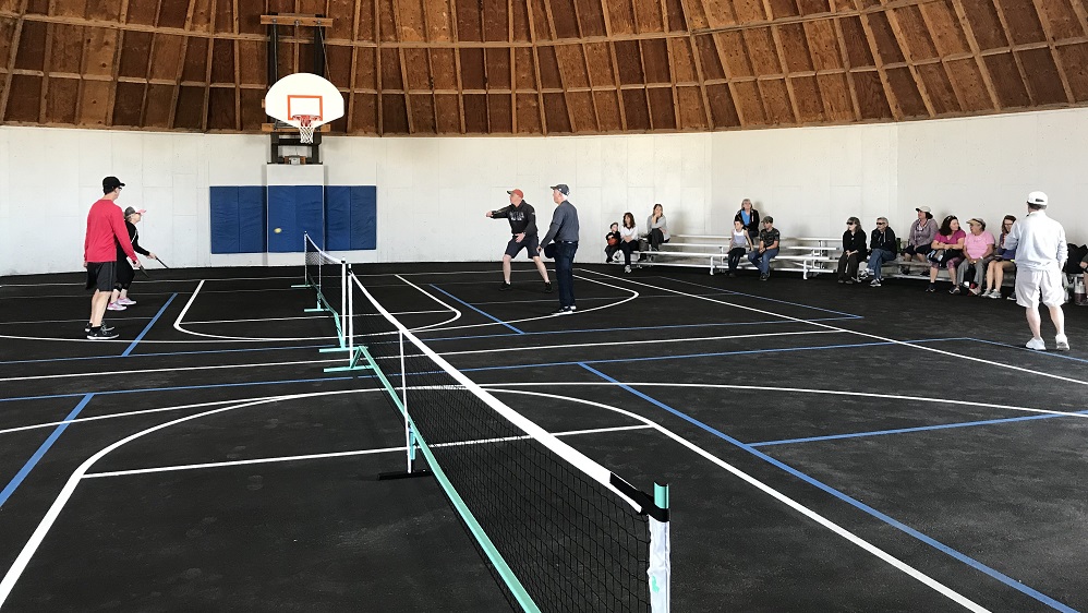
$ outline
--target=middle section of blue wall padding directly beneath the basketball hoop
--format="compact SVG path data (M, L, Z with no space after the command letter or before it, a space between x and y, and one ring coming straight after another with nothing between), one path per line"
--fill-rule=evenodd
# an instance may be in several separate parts
M268 251L294 253L305 248L302 233L325 245L325 188L268 185ZM279 228L279 232L276 232Z

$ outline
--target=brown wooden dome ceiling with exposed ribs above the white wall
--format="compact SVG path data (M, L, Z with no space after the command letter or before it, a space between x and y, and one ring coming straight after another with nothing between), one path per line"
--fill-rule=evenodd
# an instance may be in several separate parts
M1088 0L0 0L9 124L255 132L324 14L349 134L728 130L1088 103ZM280 27L279 74L313 65Z

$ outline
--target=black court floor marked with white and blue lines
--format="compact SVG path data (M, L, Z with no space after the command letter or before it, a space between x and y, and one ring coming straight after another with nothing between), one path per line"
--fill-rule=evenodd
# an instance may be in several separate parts
M355 266L496 397L672 492L673 610L1088 611L1088 309L827 278ZM0 610L504 611L299 268L0 283ZM1044 329L1051 329L1049 322ZM1047 336L1053 349L1053 333Z

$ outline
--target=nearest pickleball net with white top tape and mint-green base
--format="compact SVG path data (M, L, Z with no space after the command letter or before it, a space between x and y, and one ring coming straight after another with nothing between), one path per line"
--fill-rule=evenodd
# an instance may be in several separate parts
M668 490L644 493L454 369L349 267L347 368L371 368L524 611L668 611ZM365 365L364 365L365 364Z

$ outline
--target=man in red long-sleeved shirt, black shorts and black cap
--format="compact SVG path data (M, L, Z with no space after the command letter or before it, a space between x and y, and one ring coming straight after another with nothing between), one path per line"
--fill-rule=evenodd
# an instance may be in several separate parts
M102 326L102 316L109 304L110 293L117 279L117 245L132 261L132 267L140 267L140 260L132 250L129 230L124 227L121 207L113 203L121 195L124 183L117 177L102 179L101 200L90 205L87 214L87 237L83 242L83 266L87 269L87 289L95 288L90 297L90 325L87 328L89 340L117 338L112 328Z

